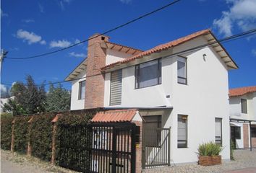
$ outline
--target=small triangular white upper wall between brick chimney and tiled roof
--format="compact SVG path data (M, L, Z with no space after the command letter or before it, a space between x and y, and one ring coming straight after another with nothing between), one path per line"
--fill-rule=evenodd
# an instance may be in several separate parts
M128 58L128 57L131 57L131 56L132 56L132 54L107 49L106 50L106 65L108 65L110 63L115 63L116 61L121 61L124 58Z

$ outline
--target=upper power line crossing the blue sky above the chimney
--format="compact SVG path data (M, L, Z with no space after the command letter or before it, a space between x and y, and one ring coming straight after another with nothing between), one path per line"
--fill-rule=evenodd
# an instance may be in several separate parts
M95 36L95 37L100 37L101 35L106 35L106 34L108 34L109 32L113 32L114 30L118 30L119 28L125 27L126 25L129 25L129 24L131 24L131 23L133 23L133 22L136 22L137 20L140 20L140 19L142 19L142 18L144 18L144 17L148 17L149 15L154 14L155 12L159 12L159 11L161 11L162 9L166 9L168 6L174 5L174 4L176 4L177 2L179 2L179 1L181 1L181 0L172 1L171 3L166 4L165 6L162 6L162 7L158 8L158 9L155 9L155 10L153 10L152 12L148 12L148 13L146 13L146 14L143 14L143 15L140 16L140 17L137 17L137 18L135 18L135 19L132 19L132 20L130 20L129 22L126 22L126 23L124 23L124 24L122 24L122 25L119 25L119 26L117 26L117 27L114 27L114 28L111 29L111 30L107 30L106 32L103 32L103 33L101 33L100 35L97 35L97 36ZM69 46L66 47L66 48L61 48L61 49L59 49L59 50L54 50L54 51L51 51L51 52L48 52L48 53L41 53L41 54L38 54L38 55L35 55L35 56L27 56L27 57L7 57L7 59L12 59L12 60L24 60L24 59L38 58L38 57L40 57L40 56L48 56L48 55L50 55L50 54L58 53L58 52L60 52L60 51L62 51L62 50L67 50L67 49L72 48L72 47L74 47L74 46L76 46L76 45L80 45L80 44L82 44L82 43L88 42L89 40L92 40L92 39L94 39L95 37L90 37L90 38L87 39L87 40L82 40L82 41L80 41L79 43L74 43L73 45L69 45Z

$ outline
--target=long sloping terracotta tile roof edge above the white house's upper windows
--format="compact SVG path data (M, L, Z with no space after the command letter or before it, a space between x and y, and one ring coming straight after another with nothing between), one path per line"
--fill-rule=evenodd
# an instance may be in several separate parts
M139 54L137 54L135 56L132 56L131 58L126 58L123 61L117 61L115 63L108 64L107 66L103 66L101 68L101 70L106 70L106 68L111 68L113 66L116 66L117 64L129 63L130 61L135 61L136 59L142 58L143 56L148 56L151 53L155 53L155 52L158 52L158 51L161 51L161 50L166 50L167 48L171 48L171 47L174 47L176 45L180 45L182 43L185 43L185 42L187 42L189 40L194 39L195 37L199 37L199 36L205 35L207 33L211 33L210 30L201 30L201 31L195 32L195 33L193 33L191 35L187 35L185 37L181 37L181 38L179 38L177 40L173 40L171 42L155 46L155 48L151 48L150 50L146 50L146 51L144 51L142 53L139 53Z

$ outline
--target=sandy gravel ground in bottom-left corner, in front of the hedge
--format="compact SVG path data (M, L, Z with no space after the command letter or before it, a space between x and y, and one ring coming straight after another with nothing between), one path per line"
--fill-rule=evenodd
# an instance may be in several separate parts
M49 162L41 161L35 157L12 154L1 150L1 173L75 173L69 169L52 167Z

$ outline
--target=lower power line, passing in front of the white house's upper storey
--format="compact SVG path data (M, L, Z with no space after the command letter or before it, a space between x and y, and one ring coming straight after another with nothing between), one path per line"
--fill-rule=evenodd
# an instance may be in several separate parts
M252 30L248 30L246 32L241 32L241 33L236 34L236 35L231 35L229 37L224 37L224 38L222 38L220 40L216 40L212 43L205 43L203 45L198 45L198 46L195 46L193 48L189 48L187 50L182 50L182 51L179 51L177 53L173 53L170 56L182 55L182 54L189 53L189 52L192 52L192 51L200 49L200 48L208 47L209 45L214 45L216 43L227 43L227 42L234 41L236 39L240 39L240 38L243 38L243 37L248 37L248 36L255 35L255 34L256 34L256 28L252 29ZM168 57L170 57L170 56L168 56ZM98 76L98 75L101 75L101 74L102 73L94 74L94 75L85 76L85 77L81 77L81 78L77 78L77 79L72 79L72 80L69 80L69 81L77 81L77 80L80 80L80 79L86 79L86 78L89 78L89 77L92 77L92 76ZM44 85L46 86L48 84L61 84L61 83L64 83L64 82L69 82L69 81L54 81L54 82L49 82L49 83L44 84ZM2 84L4 84L4 83L2 83ZM4 85L12 86L12 84L4 84ZM41 84L37 84L36 86L40 86L40 85Z

